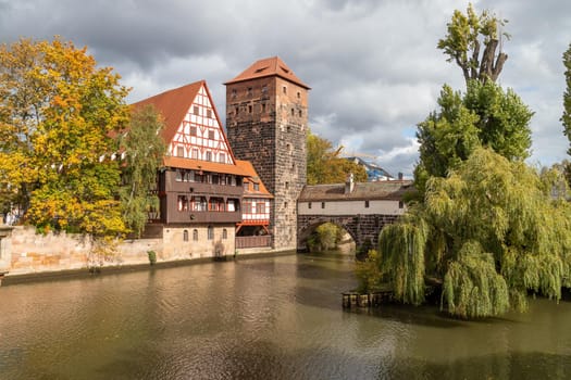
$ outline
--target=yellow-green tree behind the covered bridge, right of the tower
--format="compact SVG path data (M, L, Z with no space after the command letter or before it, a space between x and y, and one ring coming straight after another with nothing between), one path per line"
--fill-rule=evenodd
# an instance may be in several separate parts
M340 156L343 147L334 149L331 141L308 134L308 185L343 183L349 173L355 181L367 181L364 167Z

